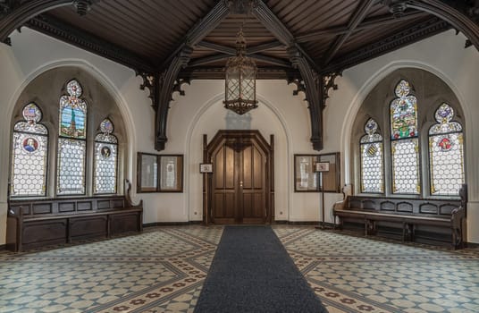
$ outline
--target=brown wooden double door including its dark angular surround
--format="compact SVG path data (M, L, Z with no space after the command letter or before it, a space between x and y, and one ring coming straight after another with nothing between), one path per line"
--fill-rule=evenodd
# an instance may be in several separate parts
M270 145L259 131L218 131L206 160L214 166L206 180L206 223L271 223L273 136Z

